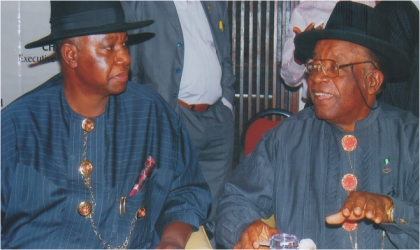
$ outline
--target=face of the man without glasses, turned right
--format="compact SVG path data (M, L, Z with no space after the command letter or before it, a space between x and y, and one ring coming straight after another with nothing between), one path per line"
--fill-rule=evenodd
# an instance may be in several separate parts
M97 96L123 92L130 68L126 33L90 35L80 39L75 71L83 92Z

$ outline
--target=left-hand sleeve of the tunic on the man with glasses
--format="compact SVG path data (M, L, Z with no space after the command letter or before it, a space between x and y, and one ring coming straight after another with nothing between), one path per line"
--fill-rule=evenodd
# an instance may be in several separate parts
M220 195L216 240L227 248L233 247L251 222L273 214L274 170L266 143L260 141L236 167Z

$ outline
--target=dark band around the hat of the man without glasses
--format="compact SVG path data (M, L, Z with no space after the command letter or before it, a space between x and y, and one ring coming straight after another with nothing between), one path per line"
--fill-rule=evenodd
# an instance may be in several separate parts
M117 22L124 22L124 13L113 8L86 11L50 21L51 33L61 33L63 31L103 26Z

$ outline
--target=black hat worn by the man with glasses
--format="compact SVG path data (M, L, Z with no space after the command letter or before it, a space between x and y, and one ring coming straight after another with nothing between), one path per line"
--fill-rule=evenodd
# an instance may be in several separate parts
M374 8L351 1L336 4L323 30L302 32L295 37L295 47L302 62L312 58L319 40L343 40L361 45L385 60L382 71L391 79L403 80L409 74L407 54L390 42L391 30L386 16Z

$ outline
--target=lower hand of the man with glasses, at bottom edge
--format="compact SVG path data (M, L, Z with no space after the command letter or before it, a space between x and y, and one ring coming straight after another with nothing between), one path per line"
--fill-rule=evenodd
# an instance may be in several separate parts
M234 249L259 249L268 248L260 246L261 241L269 241L271 235L280 233L276 228L270 227L261 220L252 222L242 232L239 241L233 246Z

